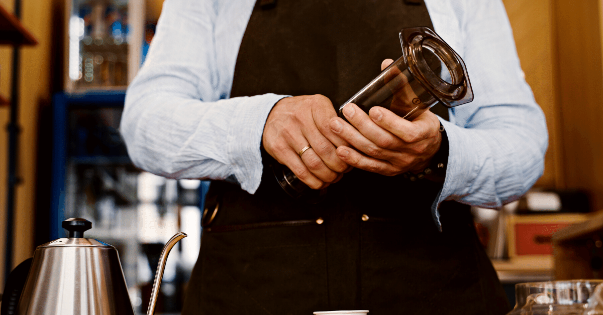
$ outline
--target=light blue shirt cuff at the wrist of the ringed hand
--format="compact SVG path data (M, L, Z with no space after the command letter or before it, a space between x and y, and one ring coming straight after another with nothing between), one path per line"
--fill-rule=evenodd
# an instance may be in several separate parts
M255 193L262 180L260 145L268 114L280 99L288 95L272 93L244 96L232 117L227 145L230 164L241 189Z

